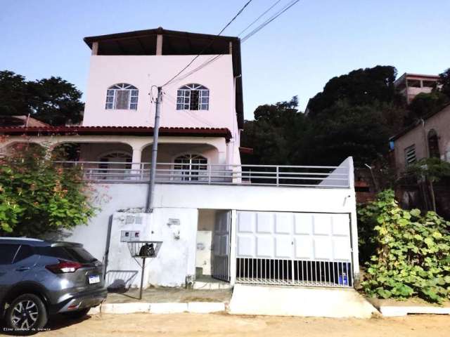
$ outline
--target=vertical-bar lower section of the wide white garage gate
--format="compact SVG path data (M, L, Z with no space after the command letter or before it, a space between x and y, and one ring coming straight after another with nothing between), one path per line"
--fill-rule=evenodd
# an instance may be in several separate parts
M237 258L236 282L294 286L353 286L352 263L318 260Z

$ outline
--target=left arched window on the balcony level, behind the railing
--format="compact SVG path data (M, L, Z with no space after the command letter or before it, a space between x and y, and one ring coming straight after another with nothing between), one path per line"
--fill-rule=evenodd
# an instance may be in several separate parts
M98 171L105 173L101 177L107 180L123 180L127 170L131 170L131 154L128 152L110 152L100 157L101 163L98 164ZM108 173L108 174L107 174Z

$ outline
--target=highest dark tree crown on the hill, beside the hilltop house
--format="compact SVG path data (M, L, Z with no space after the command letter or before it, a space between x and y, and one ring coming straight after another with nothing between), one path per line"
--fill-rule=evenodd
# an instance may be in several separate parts
M346 100L352 106L399 103L401 98L394 88L396 76L395 67L378 65L333 77L321 93L309 100L309 116L315 117L339 100Z

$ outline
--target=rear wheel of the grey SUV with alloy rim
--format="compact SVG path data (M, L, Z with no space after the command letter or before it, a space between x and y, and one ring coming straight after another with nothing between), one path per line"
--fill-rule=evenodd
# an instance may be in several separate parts
M11 302L6 310L8 328L20 333L33 333L47 323L47 310L41 298L24 293Z

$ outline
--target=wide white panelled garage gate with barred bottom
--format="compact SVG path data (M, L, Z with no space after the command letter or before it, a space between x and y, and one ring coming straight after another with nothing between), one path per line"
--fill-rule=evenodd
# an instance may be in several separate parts
M239 211L236 282L352 286L349 214Z

